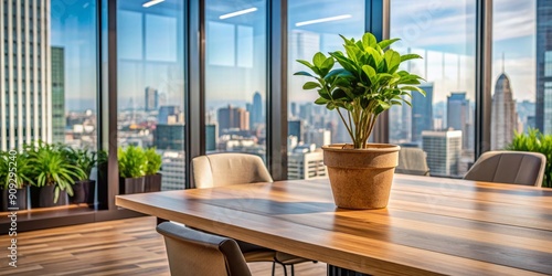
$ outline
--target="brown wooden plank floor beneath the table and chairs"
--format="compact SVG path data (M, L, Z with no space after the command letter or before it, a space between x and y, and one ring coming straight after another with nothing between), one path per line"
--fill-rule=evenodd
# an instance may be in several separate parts
M0 275L170 275L156 219L81 224L19 233L18 267L8 265L8 235L0 236ZM251 264L253 275L270 275L270 263ZM277 275L284 275L277 267ZM326 264L296 266L297 276L326 275Z

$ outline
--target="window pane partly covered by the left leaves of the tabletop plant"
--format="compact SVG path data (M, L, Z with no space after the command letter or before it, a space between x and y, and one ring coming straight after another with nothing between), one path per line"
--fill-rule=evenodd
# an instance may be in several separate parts
M296 60L312 61L317 52L340 50L346 38L364 33L364 1L289 1L288 8L288 179L326 178L321 146L350 142L351 138L336 112L315 105L315 91L304 91L307 71Z

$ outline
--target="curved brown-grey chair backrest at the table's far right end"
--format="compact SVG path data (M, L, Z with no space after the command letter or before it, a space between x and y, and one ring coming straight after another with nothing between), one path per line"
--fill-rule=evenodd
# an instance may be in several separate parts
M546 157L539 152L487 151L464 179L522 185L542 185Z

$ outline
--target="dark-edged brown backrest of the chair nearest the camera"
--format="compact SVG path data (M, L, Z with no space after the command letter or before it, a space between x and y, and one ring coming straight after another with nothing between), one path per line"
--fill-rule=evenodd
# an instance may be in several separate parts
M232 238L170 222L159 224L157 232L164 236L171 275L251 275L237 243Z

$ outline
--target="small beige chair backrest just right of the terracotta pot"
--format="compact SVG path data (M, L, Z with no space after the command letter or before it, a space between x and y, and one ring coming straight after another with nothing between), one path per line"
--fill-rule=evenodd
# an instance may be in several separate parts
M399 151L399 166L395 168L395 172L429 176L425 151L421 148L401 147Z

